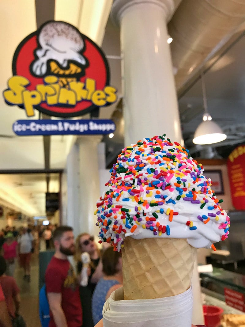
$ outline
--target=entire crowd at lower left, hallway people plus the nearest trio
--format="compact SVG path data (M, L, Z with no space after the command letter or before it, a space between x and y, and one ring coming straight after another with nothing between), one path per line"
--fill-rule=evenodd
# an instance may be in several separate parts
M89 233L74 239L69 226L6 226L0 232L0 285L10 319L18 316L20 306L15 268L23 268L23 279L29 283L31 255L43 246L42 250L54 249L55 254L45 274L47 303L40 301L40 306L46 306L43 310L40 307L42 327L93 327L102 318L106 299L122 286L122 258L111 247L99 250ZM85 252L88 265L82 261ZM84 272L86 284L81 283Z

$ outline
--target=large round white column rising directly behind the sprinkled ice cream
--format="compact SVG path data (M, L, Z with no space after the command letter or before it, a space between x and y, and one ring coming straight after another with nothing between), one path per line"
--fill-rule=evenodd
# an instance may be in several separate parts
M125 145L166 135L182 142L167 21L172 0L115 0L120 23Z

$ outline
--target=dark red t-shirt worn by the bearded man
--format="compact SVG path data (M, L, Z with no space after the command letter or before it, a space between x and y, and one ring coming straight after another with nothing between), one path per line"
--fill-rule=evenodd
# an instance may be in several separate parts
M68 260L52 257L45 273L47 293L61 293L61 307L68 327L82 326L82 306L74 270ZM50 312L49 327L56 327Z

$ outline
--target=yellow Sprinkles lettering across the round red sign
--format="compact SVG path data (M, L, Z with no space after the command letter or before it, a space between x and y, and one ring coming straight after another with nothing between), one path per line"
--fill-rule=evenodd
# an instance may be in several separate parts
M50 106L75 106L78 102L89 100L101 107L117 100L117 89L106 86L104 90L96 90L96 81L92 78L86 78L85 83L70 81L68 88L60 87L56 76L44 77L44 84L36 85L36 90L27 90L29 84L27 78L13 76L8 80L8 89L3 92L5 101L10 105L23 105L28 117L34 116L34 108L41 102Z

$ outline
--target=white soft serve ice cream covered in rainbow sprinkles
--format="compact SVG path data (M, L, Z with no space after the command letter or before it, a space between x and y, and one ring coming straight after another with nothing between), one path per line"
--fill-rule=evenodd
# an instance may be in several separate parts
M203 171L187 149L165 135L124 148L97 202L100 242L120 251L127 236L186 238L195 248L225 240L229 216Z

